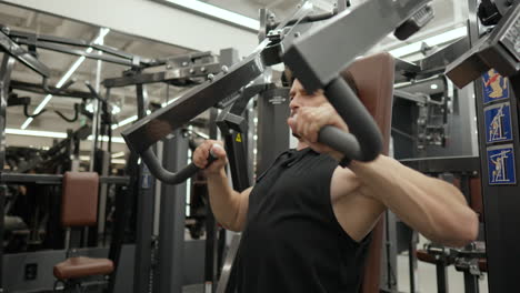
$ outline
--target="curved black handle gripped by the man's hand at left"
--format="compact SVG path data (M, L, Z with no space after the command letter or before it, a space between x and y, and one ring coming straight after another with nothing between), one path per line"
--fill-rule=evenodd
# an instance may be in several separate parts
M142 161L147 164L150 172L153 174L153 176L167 184L177 185L183 183L186 180L188 180L194 173L201 170L196 164L190 163L177 173L170 172L161 165L161 162L159 161L159 159L157 159L151 148L141 153L141 158ZM217 156L210 153L210 155L208 156L208 165L217 159Z

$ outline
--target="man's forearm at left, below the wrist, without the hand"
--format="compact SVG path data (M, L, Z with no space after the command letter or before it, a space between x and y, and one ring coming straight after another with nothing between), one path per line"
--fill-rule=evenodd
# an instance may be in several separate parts
M208 175L208 193L217 221L226 229L237 231L240 193L231 189L223 169L217 174Z

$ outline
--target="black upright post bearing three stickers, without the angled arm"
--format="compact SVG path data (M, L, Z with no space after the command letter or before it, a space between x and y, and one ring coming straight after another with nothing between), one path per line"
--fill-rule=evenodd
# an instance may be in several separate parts
M480 32L487 29L480 26L478 2L480 1L468 1L468 28L472 48L479 46ZM518 286L520 279L520 271L516 265L520 262L520 234L511 233L520 225L520 186L517 175L520 170L520 93L513 90L520 87L519 81L517 77L508 79L491 69L473 82L489 292L509 292Z

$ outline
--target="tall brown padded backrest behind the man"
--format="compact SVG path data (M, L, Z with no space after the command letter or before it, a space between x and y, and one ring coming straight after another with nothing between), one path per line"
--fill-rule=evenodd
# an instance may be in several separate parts
M393 74L394 62L389 53L378 53L356 60L348 69L358 88L358 95L372 114L383 137L383 154L390 146L392 125ZM364 274L363 293L379 293L381 274L381 251L384 218L381 218L372 231Z

